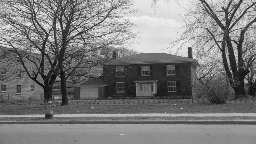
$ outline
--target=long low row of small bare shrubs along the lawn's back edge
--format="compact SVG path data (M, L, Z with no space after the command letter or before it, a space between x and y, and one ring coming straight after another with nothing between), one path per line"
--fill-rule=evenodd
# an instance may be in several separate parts
M226 99L226 103L254 103L255 97L241 97L233 98L229 97ZM56 105L61 104L61 99L52 100ZM171 97L122 97L122 98L93 98L93 99L69 99L69 104L173 104L173 103L209 103L205 97L201 98L171 98ZM1 94L1 105L39 105L44 104L44 95L40 96L40 99L15 99L10 95Z

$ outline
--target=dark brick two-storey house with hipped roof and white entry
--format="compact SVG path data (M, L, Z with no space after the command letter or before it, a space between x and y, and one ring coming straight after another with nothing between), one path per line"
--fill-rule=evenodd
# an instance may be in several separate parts
M104 92L98 97L193 95L199 63L192 58L190 47L188 51L188 58L166 53L141 53L115 59L113 54L113 60L103 66L102 83L105 85L101 90ZM86 82L83 85L86 86Z

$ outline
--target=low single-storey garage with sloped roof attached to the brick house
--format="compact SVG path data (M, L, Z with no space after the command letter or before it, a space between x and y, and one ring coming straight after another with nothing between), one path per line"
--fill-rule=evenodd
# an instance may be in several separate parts
M103 78L98 77L73 86L74 98L83 99L105 97L105 86L108 84L103 82Z

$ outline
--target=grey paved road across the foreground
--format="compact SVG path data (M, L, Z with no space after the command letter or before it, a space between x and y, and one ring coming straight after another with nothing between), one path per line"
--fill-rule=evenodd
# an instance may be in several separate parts
M256 125L0 125L1 144L254 144Z

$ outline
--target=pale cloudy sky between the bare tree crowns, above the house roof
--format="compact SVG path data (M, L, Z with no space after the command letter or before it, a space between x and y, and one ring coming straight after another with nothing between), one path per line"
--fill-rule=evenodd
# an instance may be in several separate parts
M180 3L184 6L184 3ZM169 42L178 37L178 28L182 26L183 20L178 15L184 12L176 2L157 3L157 8L151 8L151 0L134 0L134 8L139 9L135 15L129 16L136 26L133 32L140 32L136 40L137 45L132 49L143 53L175 53L168 49ZM189 47L189 46L188 46ZM183 48L187 51L187 47Z

